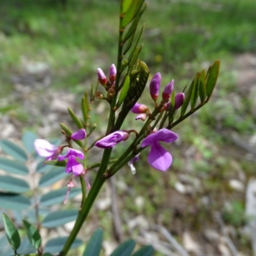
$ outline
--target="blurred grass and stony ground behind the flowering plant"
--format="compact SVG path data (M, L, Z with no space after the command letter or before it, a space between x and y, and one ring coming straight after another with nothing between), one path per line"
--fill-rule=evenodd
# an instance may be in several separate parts
M108 74L116 63L118 12L114 0L0 1L0 138L17 141L28 129L61 136L59 123L71 125L67 106L79 114L97 67ZM170 170L153 170L143 152L136 175L124 168L102 189L81 235L104 227L106 255L127 237L154 245L156 255L182 255L172 239L189 255L253 255L256 3L148 0L142 22L140 59L150 76L161 72L162 86L173 78L180 92L214 60L220 77L209 103L173 130ZM143 100L153 108L149 93ZM96 135L105 109L95 101ZM127 125L139 129L133 119Z

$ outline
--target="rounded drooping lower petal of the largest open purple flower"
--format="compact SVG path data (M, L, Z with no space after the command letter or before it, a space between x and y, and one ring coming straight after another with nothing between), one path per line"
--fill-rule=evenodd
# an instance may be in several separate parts
M172 164L172 155L158 141L152 143L148 163L156 170L166 171Z

